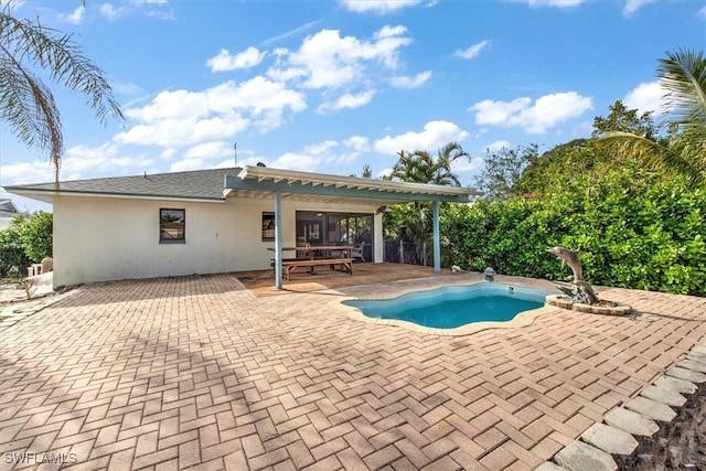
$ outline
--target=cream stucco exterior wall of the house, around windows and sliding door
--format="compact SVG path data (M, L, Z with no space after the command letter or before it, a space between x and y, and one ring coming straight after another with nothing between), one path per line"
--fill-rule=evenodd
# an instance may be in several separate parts
M159 243L159 210L185 210L184 244ZM272 200L152 201L85 196L54 200L54 286L269 268L274 242L261 239ZM296 245L297 211L375 213L367 205L282 202L282 243ZM383 261L382 218L374 220Z

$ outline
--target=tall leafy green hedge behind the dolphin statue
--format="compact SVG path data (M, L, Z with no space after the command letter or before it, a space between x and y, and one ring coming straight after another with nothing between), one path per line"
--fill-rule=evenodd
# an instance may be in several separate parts
M631 171L577 179L541 200L480 201L442 211L443 265L561 279L568 267L546 253L585 250L596 285L706 295L706 193Z

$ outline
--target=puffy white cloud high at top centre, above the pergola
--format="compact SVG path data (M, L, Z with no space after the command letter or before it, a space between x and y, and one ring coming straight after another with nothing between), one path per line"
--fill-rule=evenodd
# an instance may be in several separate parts
M277 64L268 76L301 81L304 88L342 88L370 81L371 69L382 65L396 69L398 51L411 43L404 26L383 26L371 40L341 38L340 31L322 30L302 42L296 52L277 51ZM375 71L373 71L375 72Z

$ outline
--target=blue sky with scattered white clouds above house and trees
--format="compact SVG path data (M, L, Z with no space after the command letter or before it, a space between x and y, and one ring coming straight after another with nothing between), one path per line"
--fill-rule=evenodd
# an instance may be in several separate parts
M471 185L488 149L589 137L617 99L659 111L657 60L706 44L703 0L12 4L74 34L127 117L104 127L54 86L62 180L232 167L235 142L238 165L378 176L402 149L458 141ZM0 124L0 185L52 180Z

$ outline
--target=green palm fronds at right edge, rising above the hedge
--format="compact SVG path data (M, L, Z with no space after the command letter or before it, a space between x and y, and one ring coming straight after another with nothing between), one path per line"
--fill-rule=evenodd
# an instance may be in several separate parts
M706 183L706 58L703 52L668 52L657 67L665 90L667 144L631 132L609 132L602 140L667 175L692 185Z

